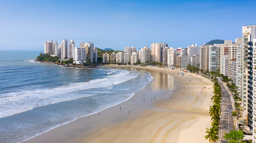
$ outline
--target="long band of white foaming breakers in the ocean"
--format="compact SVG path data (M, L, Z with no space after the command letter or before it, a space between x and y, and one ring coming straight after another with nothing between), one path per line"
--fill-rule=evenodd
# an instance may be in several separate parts
M136 78L139 74L139 72L129 74L130 72L126 70L119 71L120 73L115 75L94 79L89 82L70 83L56 88L26 89L19 92L4 93L2 94L4 98L0 98L0 118L49 104L108 93L108 89L112 88L113 85ZM107 90L97 91L98 94L91 93L89 90L97 88L106 88ZM80 94L79 91L85 91L86 94Z

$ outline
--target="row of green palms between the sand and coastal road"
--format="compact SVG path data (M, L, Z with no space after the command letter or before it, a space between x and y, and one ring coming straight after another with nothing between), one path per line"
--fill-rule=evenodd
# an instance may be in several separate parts
M218 81L214 82L214 96L212 96L213 105L210 106L209 113L212 116L212 127L206 128L207 135L205 136L205 140L209 139L209 142L217 142L219 137L218 125L220 121L220 103L221 103L221 88Z

